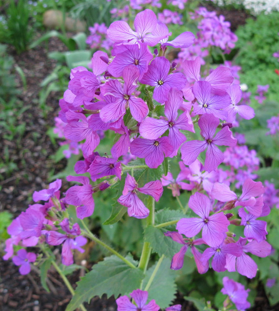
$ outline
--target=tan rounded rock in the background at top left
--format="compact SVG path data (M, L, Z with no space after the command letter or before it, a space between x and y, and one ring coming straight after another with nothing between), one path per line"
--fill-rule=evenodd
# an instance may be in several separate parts
M63 25L63 13L59 10L48 10L43 14L43 25L50 29L61 28ZM82 32L86 29L86 23L80 20L74 20L66 14L66 31Z

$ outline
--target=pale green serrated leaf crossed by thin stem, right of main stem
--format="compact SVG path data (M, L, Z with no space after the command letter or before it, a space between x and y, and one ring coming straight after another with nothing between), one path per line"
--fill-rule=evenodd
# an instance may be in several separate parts
M155 266L156 264L147 270L146 276L143 280L143 289L148 283ZM158 304L161 309L168 307L171 304L171 301L175 298L176 272L170 269L170 266L171 260L164 258L148 290L148 301L155 299L156 304Z

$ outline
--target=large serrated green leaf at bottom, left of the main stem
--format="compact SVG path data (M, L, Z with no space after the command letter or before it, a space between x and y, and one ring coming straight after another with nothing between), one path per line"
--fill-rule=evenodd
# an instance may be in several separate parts
M126 258L133 264L137 262L131 255ZM74 311L84 301L90 301L94 296L107 297L119 294L126 295L140 287L144 273L140 269L131 268L115 255L104 258L95 264L90 272L77 282L75 295L68 304L66 311Z

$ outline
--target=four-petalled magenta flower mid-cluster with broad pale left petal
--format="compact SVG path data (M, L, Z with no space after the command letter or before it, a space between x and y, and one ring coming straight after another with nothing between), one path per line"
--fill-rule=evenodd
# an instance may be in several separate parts
M170 144L173 146L173 151L169 155L170 157L177 155L178 148L186 140L185 135L182 134L180 130L195 132L188 111L185 111L177 118L177 111L182 104L182 92L175 88L171 88L168 93L168 100L165 103L166 117L160 117L160 119L147 117L140 124L140 134L148 139L156 139L169 130L168 137Z

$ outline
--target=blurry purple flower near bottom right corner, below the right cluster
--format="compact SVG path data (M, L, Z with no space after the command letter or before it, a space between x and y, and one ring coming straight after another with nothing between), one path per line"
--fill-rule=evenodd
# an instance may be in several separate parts
M244 285L238 283L227 276L223 277L223 285L221 292L228 295L231 301L236 305L237 310L245 310L250 308L251 304L247 301L249 289L245 290Z

